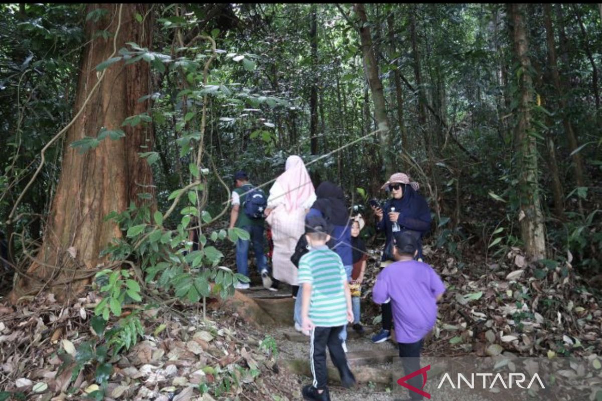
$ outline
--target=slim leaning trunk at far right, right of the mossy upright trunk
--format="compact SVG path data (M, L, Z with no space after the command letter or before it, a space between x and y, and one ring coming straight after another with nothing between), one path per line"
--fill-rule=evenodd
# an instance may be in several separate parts
M552 81L554 82L554 88L556 89L558 103L560 105L560 113L562 114L562 124L565 129L566 138L568 139L569 150L571 152L574 152L574 150L576 150L579 147L579 143L577 142L577 135L573 130L573 124L571 124L571 121L569 120L567 115L566 100L562 93L562 84L560 84L560 73L558 72L558 63L556 61L556 41L554 41L554 27L552 26L551 19L551 7L550 4L543 4L543 7L545 35L548 42L548 58L550 62L550 72L552 75ZM577 186L585 186L583 159L580 153L575 153L572 156L572 158Z

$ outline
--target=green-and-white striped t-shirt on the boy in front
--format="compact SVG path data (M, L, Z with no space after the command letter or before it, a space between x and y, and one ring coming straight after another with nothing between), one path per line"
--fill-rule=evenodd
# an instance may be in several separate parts
M309 319L318 327L347 324L347 280L341 257L324 245L311 249L299 260L299 286L311 284Z

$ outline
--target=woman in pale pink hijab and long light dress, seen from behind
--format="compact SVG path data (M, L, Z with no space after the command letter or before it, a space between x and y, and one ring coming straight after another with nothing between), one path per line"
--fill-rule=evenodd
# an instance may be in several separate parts
M314 185L303 160L299 156L289 156L285 172L270 188L265 221L272 227L274 241L272 275L291 286L298 285L297 268L291 262L291 256L297 240L305 232L305 215L315 199Z

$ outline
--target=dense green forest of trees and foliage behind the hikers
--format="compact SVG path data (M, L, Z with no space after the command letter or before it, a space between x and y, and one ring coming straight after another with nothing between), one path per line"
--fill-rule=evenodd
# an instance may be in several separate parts
M385 200L383 183L404 172L432 211L431 263L466 280L522 275L597 305L588 296L602 285L600 4L0 12L1 292L20 302L98 291L96 333L123 318L95 343L104 356L144 334L126 305L170 294L204 312L206 298L234 295L244 278L231 269L231 242L248 236L227 228L234 174L267 190L290 155L315 187L344 189L373 249L383 238L369 201ZM532 290L518 287L496 299L509 291L523 308ZM538 314L553 322L550 298ZM592 314L579 308L590 352ZM558 341L537 352L569 352ZM77 361L74 378L89 361Z

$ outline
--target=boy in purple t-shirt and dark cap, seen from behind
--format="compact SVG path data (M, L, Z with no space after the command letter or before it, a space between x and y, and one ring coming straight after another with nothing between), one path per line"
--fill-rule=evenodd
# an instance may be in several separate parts
M409 375L420 369L422 341L435 325L437 301L443 296L445 286L433 268L414 260L418 243L412 234L393 233L393 240L396 262L383 269L376 278L372 299L376 304L383 304L391 298L399 357L403 358L405 375ZM422 388L422 376L409 379L408 384ZM409 393L411 400L423 398L412 391Z

